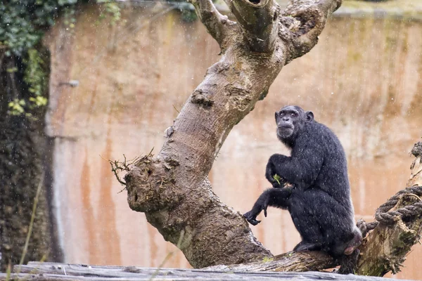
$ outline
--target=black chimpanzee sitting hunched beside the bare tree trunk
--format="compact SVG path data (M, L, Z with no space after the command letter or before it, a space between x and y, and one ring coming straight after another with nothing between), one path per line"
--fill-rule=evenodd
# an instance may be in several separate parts
M293 251L326 251L350 255L362 242L355 226L345 152L335 134L314 120L312 112L286 106L276 112L277 137L291 156L274 154L265 173L273 188L265 190L245 218L256 226L267 207L288 209L302 237ZM283 187L274 181L278 175Z

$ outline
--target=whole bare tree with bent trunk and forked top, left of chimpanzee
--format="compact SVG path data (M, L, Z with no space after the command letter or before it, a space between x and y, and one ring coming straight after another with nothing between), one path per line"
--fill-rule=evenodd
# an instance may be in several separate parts
M279 13L274 0L227 0L237 22L219 14L211 0L191 3L222 58L166 130L158 155L130 167L127 200L195 268L262 261L272 254L243 216L212 192L207 174L233 126L267 95L283 65L317 43L341 1L298 0Z

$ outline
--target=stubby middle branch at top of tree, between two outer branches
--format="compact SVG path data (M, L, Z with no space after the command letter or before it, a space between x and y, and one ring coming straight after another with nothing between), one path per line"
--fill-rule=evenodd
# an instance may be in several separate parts
M241 25L251 51L274 51L279 30L279 4L274 0L233 0L226 3Z

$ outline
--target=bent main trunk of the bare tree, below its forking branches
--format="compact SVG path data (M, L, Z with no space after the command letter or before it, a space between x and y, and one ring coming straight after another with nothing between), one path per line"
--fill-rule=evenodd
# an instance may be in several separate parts
M167 130L159 155L141 158L125 178L129 206L145 212L165 240L177 244L182 233L190 237L181 250L196 268L271 256L243 216L220 202L206 176L231 128L275 78L264 67L275 59L257 56L242 63L230 48ZM250 63L262 71L252 70Z

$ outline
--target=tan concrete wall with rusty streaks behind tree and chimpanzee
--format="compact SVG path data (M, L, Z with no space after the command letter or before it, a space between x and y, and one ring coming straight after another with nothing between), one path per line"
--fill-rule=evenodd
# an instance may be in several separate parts
M219 48L199 22L179 20L165 7L123 12L117 26L98 23L90 8L70 31L56 26L51 48L48 133L54 147L54 192L59 235L70 263L186 267L126 192L105 159L160 150L163 132L215 63ZM151 16L152 15L152 16ZM274 111L286 104L312 110L343 143L357 218L409 177L409 150L422 136L422 23L333 18L319 44L283 68L264 101L234 127L210 179L217 195L247 211L269 187L269 156L277 141ZM79 80L72 88L61 83ZM288 212L270 209L252 227L274 254L293 249L299 235ZM421 279L422 247L409 254L400 278Z

